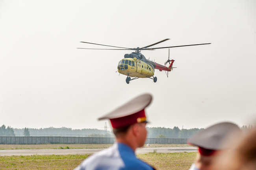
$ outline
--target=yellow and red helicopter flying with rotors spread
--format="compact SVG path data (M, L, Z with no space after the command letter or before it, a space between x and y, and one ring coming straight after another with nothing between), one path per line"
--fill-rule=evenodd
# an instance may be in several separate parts
M100 49L100 50L134 50L135 52L132 52L130 54L125 54L124 58L119 61L117 66L117 71L123 75L126 75L126 83L129 84L131 80L139 79L139 78L149 78L152 79L154 82L157 81L157 77L154 77L155 69L158 69L159 71L167 71L167 77L169 75L169 71L172 71L173 68L173 62L175 60L170 60L170 48L174 47L185 47L185 46L198 46L198 45L205 45L205 44L211 44L211 43L205 43L205 44L190 44L190 45L182 45L182 46L170 46L170 47L158 47L158 48L149 48L151 46L154 46L156 44L159 44L161 42L164 42L166 40L169 40L169 38L161 40L159 42L156 42L154 44L142 47L142 48L125 48L125 47L117 47L117 46L108 46L103 44L95 44L91 42L83 42L87 44L95 44L99 46L108 46L108 47L114 47L117 49L104 49L104 48L78 48L78 49ZM165 62L165 65L169 63L169 66L163 66L161 64L158 64L157 62L153 62L149 59L146 59L145 56L141 53L141 50L155 50L155 49L163 49L168 48L169 55L168 60ZM133 77L133 78L131 78Z

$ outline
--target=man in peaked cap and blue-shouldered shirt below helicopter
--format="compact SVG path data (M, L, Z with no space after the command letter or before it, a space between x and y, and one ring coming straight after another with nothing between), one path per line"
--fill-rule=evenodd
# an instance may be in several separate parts
M99 118L109 119L116 143L83 161L75 170L154 170L135 156L147 137L145 108L152 96L143 94Z

